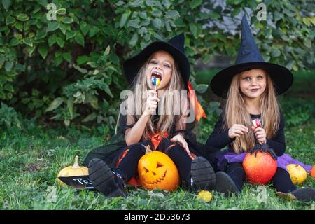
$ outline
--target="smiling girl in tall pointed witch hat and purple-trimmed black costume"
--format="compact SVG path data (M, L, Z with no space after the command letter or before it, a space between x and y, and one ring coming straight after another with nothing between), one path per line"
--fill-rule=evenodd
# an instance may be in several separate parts
M312 166L283 154L286 149L284 119L276 94L288 90L292 83L293 74L288 69L262 59L244 15L241 48L235 65L223 69L211 80L213 92L226 97L227 101L207 146L229 146L228 150L217 153L216 158L218 169L232 178L231 193L240 193L243 188L246 176L242 161L246 154L249 151L251 154L267 151L277 160L278 168L272 183L278 195L303 201L315 200L315 190L296 189L286 169L286 165L293 163L302 165L309 172ZM255 119L259 119L261 127L253 123Z

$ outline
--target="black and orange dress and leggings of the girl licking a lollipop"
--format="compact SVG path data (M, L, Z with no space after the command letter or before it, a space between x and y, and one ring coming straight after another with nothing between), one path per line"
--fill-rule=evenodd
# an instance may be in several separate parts
M153 124L158 121L158 117L158 115L152 117ZM104 162L106 162L106 164L110 167L118 168L118 170L116 169L116 172L122 171L125 181L129 184L139 186L139 178L137 176L138 161L142 155L146 153L145 146L150 145L153 150L162 151L163 153L169 155L169 157L174 161L176 167L179 169L181 179L186 183L190 183L190 165L192 159L188 153L179 146L179 144L174 145L174 143L171 143L170 139L172 139L172 137L176 134L179 134L179 132L185 133L185 139L190 148L190 152L194 157L197 157L200 154L197 153L195 148L199 148L201 150L204 149L204 151L206 151L206 149L204 145L199 144L196 141L195 135L191 131L192 127L189 127L187 130L179 131L172 128L172 133L166 132L151 134L150 139L142 139L137 144L127 146L125 143L125 130L127 130L127 128L131 128L133 125L125 125L126 120L126 116L120 116L119 131L118 134L113 137L113 141L116 142L90 151L85 158L85 166L88 166L90 160L93 158L99 158L104 160Z

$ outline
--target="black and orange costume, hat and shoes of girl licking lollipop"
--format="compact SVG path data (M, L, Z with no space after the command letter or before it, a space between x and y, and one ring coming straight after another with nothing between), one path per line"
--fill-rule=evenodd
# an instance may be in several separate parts
M175 36L169 42L155 41L146 46L137 56L127 59L124 63L124 71L127 80L131 84L136 77L139 69L144 62L156 51L164 50L174 58L174 61L179 67L181 78L185 83L185 88L188 90L188 99L190 101L190 113L195 113L197 120L205 117L205 113L198 102L192 85L190 85L190 64L184 53L185 38L183 34ZM155 112L158 112L156 109ZM153 127L157 127L159 115L151 116ZM175 116L174 120L179 120ZM135 118L137 123L137 118ZM134 123L134 124L135 124ZM133 124L133 125L134 125ZM153 150L162 151L169 155L179 169L179 174L183 183L189 190L213 190L216 187L216 174L210 162L203 157L200 157L200 152L207 154L207 148L203 144L197 143L192 130L195 125L186 123L185 130L176 130L176 121L172 124L169 133L152 133L148 139L141 139L137 144L127 146L125 142L125 131L132 128L133 125L127 125L127 116L120 114L119 131L112 139L112 144L101 146L92 150L85 158L84 165L89 167L90 180L93 186L108 197L125 196L125 183L139 185L137 178L137 167L140 158L145 154L146 146L150 145ZM170 141L176 134L183 133L190 155L179 145ZM198 148L198 150L196 150ZM214 156L207 155L209 160L214 161ZM212 162L213 162L212 161ZM222 174L224 174L222 172ZM222 176L222 175L221 175ZM222 176L222 180L226 176ZM229 178L229 177L228 177ZM221 181L222 183L222 181Z

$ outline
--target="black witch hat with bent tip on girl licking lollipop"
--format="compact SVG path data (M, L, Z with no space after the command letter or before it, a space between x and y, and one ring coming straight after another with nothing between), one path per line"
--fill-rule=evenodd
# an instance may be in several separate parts
M169 52L169 54L174 57L174 61L179 66L179 71L181 72L184 83L188 83L190 78L190 64L188 58L185 55L184 45L184 34L175 36L169 40L169 42L155 41L147 45L146 48L141 50L138 55L127 59L123 64L128 83L131 84L133 82L134 78L137 76L138 71L141 69L141 66L143 66L146 60L158 50Z

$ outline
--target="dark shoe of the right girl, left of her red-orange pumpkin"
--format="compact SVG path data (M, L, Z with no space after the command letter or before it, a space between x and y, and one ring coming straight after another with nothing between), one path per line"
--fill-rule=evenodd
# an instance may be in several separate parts
M216 173L216 191L224 193L225 197L229 197L231 194L239 195L240 193L239 188L237 188L229 174L222 171Z

